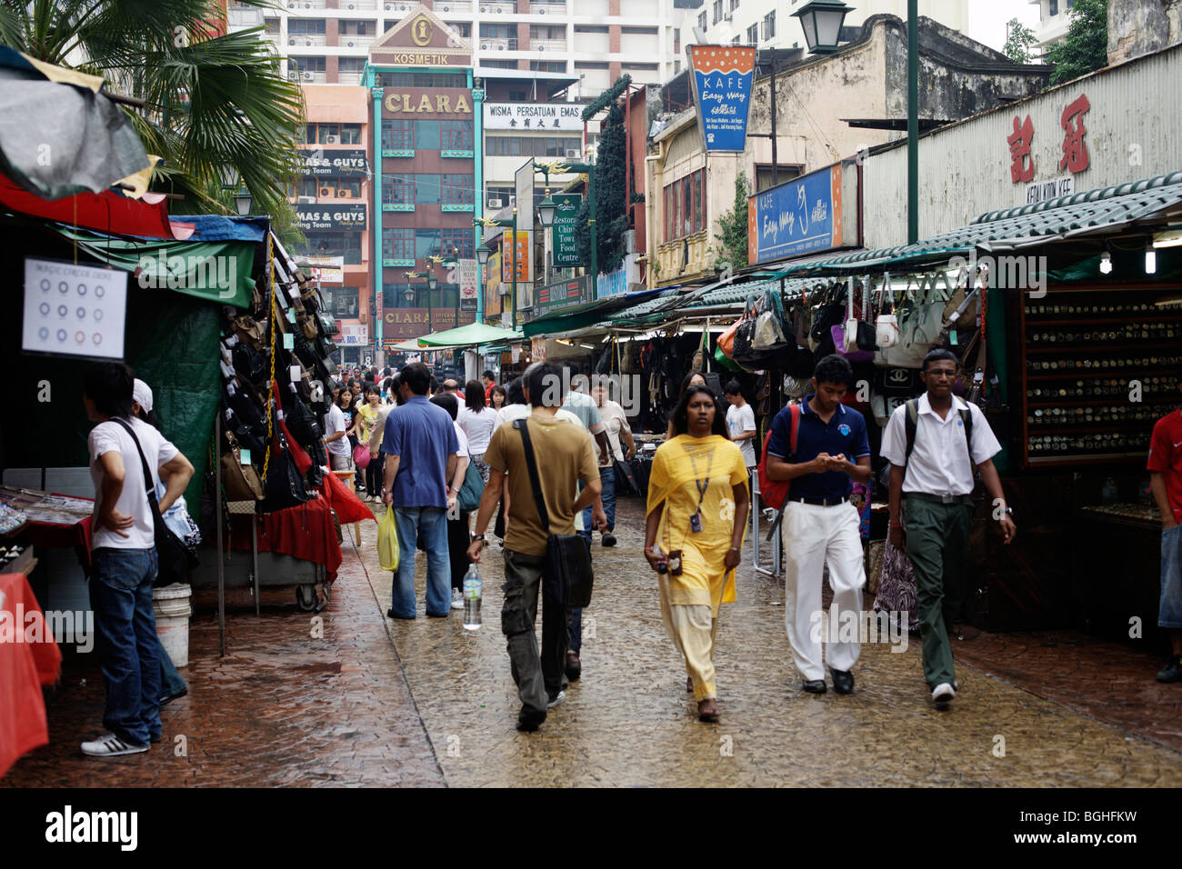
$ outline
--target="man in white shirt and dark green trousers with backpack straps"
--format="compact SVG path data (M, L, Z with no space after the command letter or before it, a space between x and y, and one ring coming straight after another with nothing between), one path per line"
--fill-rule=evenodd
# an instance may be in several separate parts
M965 598L974 465L993 499L991 518L1000 524L1007 544L1018 528L993 466L1001 445L981 409L953 395L956 357L949 350L933 350L923 358L920 377L928 391L891 414L882 455L891 463L891 545L904 546L905 519L907 555L915 569L923 675L931 700L946 706L956 696L948 622ZM904 499L907 514L901 518Z

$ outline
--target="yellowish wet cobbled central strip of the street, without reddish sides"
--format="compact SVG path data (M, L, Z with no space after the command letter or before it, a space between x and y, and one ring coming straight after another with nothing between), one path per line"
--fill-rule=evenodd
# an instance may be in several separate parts
M804 694L782 591L749 564L719 629L722 722L699 722L641 556L641 512L638 500L621 501L619 545L596 543L584 675L533 734L513 728L520 702L499 630L499 547L481 570L485 627L475 633L459 615L423 616L420 564L420 617L391 633L449 785L1182 785L1182 754L973 667L957 667L954 708L936 711L918 642L901 654L864 646L851 696ZM384 610L389 575L369 547L363 555ZM994 754L998 735L1005 757Z

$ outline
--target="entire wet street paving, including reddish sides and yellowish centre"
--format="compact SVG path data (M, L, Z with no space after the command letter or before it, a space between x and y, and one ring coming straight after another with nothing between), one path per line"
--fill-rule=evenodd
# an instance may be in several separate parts
M219 659L213 598L202 592L182 670L190 694L163 711L161 745L142 755L84 758L78 742L98 733L103 690L96 662L74 659L48 699L50 746L18 761L0 786L1182 785L1182 754L1165 747L1176 720L1162 719L1176 712L1173 695L1144 689L1129 698L1121 726L1095 720L1103 716L1098 695L1071 689L1072 672L1087 679L1080 663L1105 660L1086 643L1060 660L1037 640L970 637L947 712L928 698L915 638L901 654L864 646L852 696L801 693L784 636L782 590L751 569L747 553L739 602L723 608L719 629L722 722L699 722L641 556L641 511L639 500L622 501L619 545L596 543L584 677L538 733L513 726L520 703L500 634L496 544L481 568L481 630L463 630L459 611L424 616L422 556L420 617L394 622L384 616L390 573L378 569L370 524L361 558L346 538L332 602L319 614L324 638L310 636L312 616L296 610L290 591L264 592L259 617L241 608L249 597L236 591L228 654ZM1045 686L1038 654L1041 669L1056 672ZM1106 672L1113 690L1121 680L1136 682L1143 661ZM1151 672L1148 680L1155 685ZM1152 727L1137 727L1137 702ZM1080 703L1086 714L1063 703ZM177 735L188 757L176 755ZM1004 757L995 753L998 737Z

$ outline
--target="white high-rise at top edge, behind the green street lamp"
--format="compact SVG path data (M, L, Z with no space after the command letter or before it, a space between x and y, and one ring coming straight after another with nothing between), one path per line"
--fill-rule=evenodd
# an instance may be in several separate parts
M1037 1L1037 0L1035 0ZM1043 0L1046 2L1047 0ZM792 17L806 0L702 0L688 9L682 45L755 45L760 48L804 48L800 22ZM871 15L907 20L907 0L846 0L853 11L843 26L860 28ZM968 32L968 0L920 0L918 13L961 33ZM695 30L699 34L695 34Z

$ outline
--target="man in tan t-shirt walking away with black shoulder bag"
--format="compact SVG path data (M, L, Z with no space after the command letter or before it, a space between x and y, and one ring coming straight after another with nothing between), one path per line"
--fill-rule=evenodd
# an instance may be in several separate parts
M513 680L521 696L518 729L535 731L546 720L546 709L565 698L563 670L566 663L566 608L552 605L560 591L545 576L546 538L550 534L573 534L574 515L592 507L592 523L606 525L599 502L599 468L591 435L582 426L556 419L563 402L561 370L548 362L531 365L522 383L526 401L533 408L524 424L530 427L541 494L546 501L550 528L544 528L533 498L525 460L521 433L504 424L493 433L485 450L489 468L485 494L476 513L476 536L468 547L468 558L480 562L488 527L501 499L501 481L508 473L509 508L505 523L505 604L501 630L508 638ZM543 401L546 401L544 404ZM578 491L579 481L584 489ZM538 612L538 589L541 586L541 656L533 624Z

